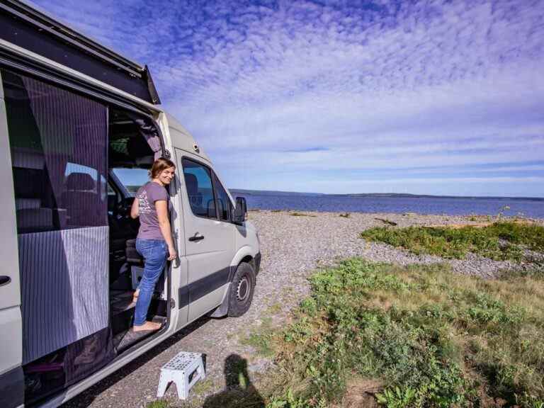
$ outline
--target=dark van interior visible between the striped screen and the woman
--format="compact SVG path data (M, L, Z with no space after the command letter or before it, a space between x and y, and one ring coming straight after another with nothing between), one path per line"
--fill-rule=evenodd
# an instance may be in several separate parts
M145 132L156 134L150 121L111 109L108 130L108 225L110 227L110 307L113 346L119 352L149 333L130 331L135 303L132 295L142 277L144 260L136 251L140 223L130 217L134 194L154 162ZM168 307L164 273L155 286L148 319L166 323Z

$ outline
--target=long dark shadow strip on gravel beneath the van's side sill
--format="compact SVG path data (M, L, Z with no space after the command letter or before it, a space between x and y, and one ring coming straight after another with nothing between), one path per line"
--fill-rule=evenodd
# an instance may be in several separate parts
M178 341L183 339L183 337L187 336L188 334L191 334L191 332L195 331L199 327L202 327L204 324L209 322L210 319L211 317L208 317L208 316L200 317L200 319L189 324L187 327L181 329L181 331L169 337L168 339L164 340L162 343L157 344L157 346L147 351L146 353L142 354L142 356L137 357L134 361L131 361L130 363L125 365L123 368L120 368L119 370L115 371L115 373L108 375L108 377L98 382L98 384L93 385L91 388L82 392L80 395L78 395L74 399L71 399L65 404L62 404L60 408L89 407L94 402L94 399L96 399L96 397L101 395L102 392L107 390L109 387L112 387L120 380L123 380L123 378L125 378L127 375L137 370L138 368L142 367L142 365L145 365L148 361L152 360L152 358L157 357L163 351L166 351L171 346L174 346L174 344L176 344ZM156 373L157 373L157 375L155 376L156 378L151 378L149 380L156 381L157 385L159 385L159 368L157 368ZM123 397L123 396L120 395L119 397Z

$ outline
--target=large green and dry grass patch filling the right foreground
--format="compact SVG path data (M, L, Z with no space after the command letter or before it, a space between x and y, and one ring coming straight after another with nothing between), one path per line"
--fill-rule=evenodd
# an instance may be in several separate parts
M544 404L541 274L491 281L350 259L310 282L275 335L268 407L327 407L353 378L382 384L386 407Z

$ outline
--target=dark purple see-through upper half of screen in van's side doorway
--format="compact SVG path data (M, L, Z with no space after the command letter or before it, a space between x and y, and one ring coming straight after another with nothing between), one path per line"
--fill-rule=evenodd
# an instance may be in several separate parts
M8 70L1 77L18 233L107 226L107 106Z

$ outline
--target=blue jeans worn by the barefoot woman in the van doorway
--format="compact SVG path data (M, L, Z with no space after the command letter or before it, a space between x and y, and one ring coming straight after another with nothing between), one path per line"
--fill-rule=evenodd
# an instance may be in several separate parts
M134 325L142 326L146 321L155 283L164 269L168 251L166 242L162 239L136 239L136 251L145 259L144 273L138 285L140 295L134 312Z

